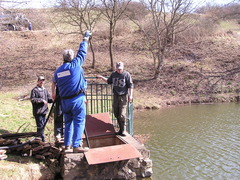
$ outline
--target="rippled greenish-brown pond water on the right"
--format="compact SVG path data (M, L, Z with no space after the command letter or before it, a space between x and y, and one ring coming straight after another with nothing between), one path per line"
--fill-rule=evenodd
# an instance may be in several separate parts
M135 112L134 134L150 134L152 179L240 179L239 118L240 104Z

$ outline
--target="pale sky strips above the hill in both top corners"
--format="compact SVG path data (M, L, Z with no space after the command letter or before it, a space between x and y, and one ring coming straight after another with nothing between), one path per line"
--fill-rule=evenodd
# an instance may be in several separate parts
M11 0L8 0L11 1ZM26 7L26 8L44 8L44 7L51 7L54 5L55 0L12 0L12 1L19 1L23 2L25 1L26 3L23 3L21 7ZM232 2L233 0L194 0L195 3L198 6L204 5L204 3L211 3L211 4L218 4L218 5L224 5L229 2ZM240 2L240 0L236 0ZM3 4L2 4L3 5Z

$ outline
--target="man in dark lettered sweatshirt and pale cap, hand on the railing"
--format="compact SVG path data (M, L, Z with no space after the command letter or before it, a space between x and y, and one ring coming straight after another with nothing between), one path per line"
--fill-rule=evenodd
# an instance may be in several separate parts
M119 125L117 135L126 136L126 110L128 102L133 99L133 82L130 73L123 69L123 62L117 62L116 71L109 78L101 75L97 78L113 85L113 110Z

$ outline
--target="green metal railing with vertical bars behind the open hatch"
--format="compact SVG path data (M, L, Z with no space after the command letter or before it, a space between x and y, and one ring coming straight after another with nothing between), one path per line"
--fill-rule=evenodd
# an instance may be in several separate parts
M112 117L113 126L118 128L118 123L113 114L112 102L113 93L112 85L102 83L96 77L86 77L87 87L87 114L96 114L109 112ZM127 107L127 131L133 135L133 103L129 103Z

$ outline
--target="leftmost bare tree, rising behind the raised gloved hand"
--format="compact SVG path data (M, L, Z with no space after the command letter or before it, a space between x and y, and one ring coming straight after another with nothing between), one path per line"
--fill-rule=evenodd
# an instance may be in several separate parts
M71 34L83 34L86 30L94 30L96 22L100 18L101 11L97 8L95 0L57 0L57 14L61 23L70 25ZM60 13L59 13L60 12ZM95 68L95 53L92 39L89 41L92 52L92 68Z

